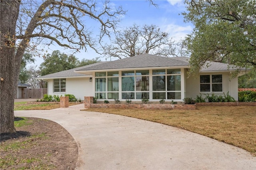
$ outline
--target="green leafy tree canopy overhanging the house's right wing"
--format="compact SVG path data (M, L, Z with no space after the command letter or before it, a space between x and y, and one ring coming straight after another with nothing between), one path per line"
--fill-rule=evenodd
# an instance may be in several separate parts
M255 0L185 0L185 4L185 21L195 26L186 38L191 73L197 73L206 61L255 70Z

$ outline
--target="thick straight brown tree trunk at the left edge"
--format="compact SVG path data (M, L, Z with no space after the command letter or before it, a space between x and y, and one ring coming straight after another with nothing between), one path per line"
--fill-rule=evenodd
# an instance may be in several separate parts
M16 132L14 127L16 21L20 0L0 1L0 133Z

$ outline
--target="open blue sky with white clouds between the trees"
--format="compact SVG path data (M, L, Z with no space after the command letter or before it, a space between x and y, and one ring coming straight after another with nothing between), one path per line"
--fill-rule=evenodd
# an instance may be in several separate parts
M98 3L100 3L99 1ZM119 23L120 28L126 28L137 24L139 26L156 25L162 32L168 32L173 40L180 40L184 38L186 34L190 34L193 29L191 23L184 23L184 18L181 12L186 10L183 0L154 0L158 7L152 6L146 0L111 0L113 6L122 6L124 10L127 10L126 15L122 16L122 21ZM52 53L52 50L60 50L68 53L61 47L52 46L51 49L45 49ZM88 51L80 51L75 56L81 60L83 58L92 59L100 57L92 49L88 48ZM105 61L105 58L100 58ZM37 57L36 62L33 65L40 65L43 62L42 58Z

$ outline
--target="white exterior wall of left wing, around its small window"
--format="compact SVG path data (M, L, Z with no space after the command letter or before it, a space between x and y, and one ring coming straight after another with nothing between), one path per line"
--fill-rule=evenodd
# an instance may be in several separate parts
M66 92L53 92L53 79L48 80L48 94L62 95L72 94L77 99L84 100L84 96L94 96L93 82L89 81L89 77L66 79Z

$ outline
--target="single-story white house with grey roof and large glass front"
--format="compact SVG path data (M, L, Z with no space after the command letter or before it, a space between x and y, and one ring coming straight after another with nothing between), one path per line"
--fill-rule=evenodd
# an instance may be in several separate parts
M238 100L236 68L208 62L197 77L188 77L188 57L160 57L141 54L105 61L38 77L48 82L49 95L73 94L76 98L94 96L98 101L183 101L200 94L228 93ZM203 95L204 97L204 95Z

